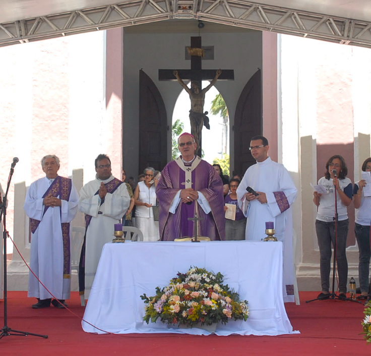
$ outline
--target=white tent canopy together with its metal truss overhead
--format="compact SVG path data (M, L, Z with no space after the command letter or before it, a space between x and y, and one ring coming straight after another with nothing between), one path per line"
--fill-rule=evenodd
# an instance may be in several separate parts
M371 47L369 0L0 0L0 45L168 19L199 19Z

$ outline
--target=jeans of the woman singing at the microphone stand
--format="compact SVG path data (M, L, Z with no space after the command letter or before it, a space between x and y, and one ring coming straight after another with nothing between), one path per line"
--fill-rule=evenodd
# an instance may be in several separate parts
M346 293L348 278L348 261L346 259L346 238L349 220L338 221L336 264L339 274L339 293ZM335 241L335 222L316 220L318 246L320 247L321 286L324 293L330 289L331 242Z

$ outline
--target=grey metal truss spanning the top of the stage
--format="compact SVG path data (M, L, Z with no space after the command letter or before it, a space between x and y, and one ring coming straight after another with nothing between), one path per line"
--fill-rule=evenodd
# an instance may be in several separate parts
M371 48L371 22L244 0L127 0L0 24L0 46L168 19L197 19Z

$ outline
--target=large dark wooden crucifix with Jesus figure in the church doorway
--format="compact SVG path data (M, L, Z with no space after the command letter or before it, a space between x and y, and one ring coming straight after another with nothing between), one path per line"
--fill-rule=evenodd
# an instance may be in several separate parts
M191 99L191 133L197 143L196 155L201 157L201 130L204 125L207 129L210 129L209 118L206 116L208 112L204 112L205 93L215 84L216 80L234 80L234 71L233 69L202 69L201 36L191 37L189 53L191 55L191 69L159 69L158 80L177 80L189 93ZM191 89L183 83L183 80L191 80ZM212 82L202 89L203 80L212 80Z

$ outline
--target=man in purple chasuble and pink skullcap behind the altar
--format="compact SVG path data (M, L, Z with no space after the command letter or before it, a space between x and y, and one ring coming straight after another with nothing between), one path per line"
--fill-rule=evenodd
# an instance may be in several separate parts
M211 240L224 240L223 183L215 169L195 155L197 143L190 133L178 138L181 156L168 163L162 171L156 187L160 205L160 238L172 241L175 238L193 236L195 216L199 235Z

